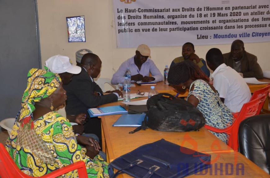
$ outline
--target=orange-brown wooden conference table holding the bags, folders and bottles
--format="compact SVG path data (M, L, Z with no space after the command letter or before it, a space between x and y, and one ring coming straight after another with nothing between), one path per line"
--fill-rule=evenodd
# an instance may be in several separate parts
M263 79L260 81L270 81L270 79ZM254 92L257 89L267 86L267 84L254 85L248 84L250 91ZM173 87L164 85L163 82L157 83L155 89L158 92L165 92L175 95L176 91ZM138 90L148 92L150 86L137 86L131 87L131 92L136 93ZM180 96L187 96L188 91ZM145 97L137 98L134 100L143 100ZM134 101L133 100L133 101ZM104 104L100 107L122 105L124 103L115 102ZM127 107L127 106L126 106ZM111 162L121 155L124 155L139 146L147 143L155 142L164 138L169 142L173 142L183 147L190 148L195 151L207 153L211 155L211 164L214 166L212 171L208 171L205 175L191 175L189 177L269 177L269 175L260 169L257 165L252 163L249 159L245 158L238 152L234 152L225 143L221 142L212 133L204 127L200 131L193 132L160 132L151 129L141 130L134 134L128 134L134 130L134 127L113 127L113 123L121 115L102 116L101 129L102 129L102 150L106 152L107 162ZM196 155L197 152L193 153ZM240 164L239 164L240 163ZM231 166L232 169L226 167ZM236 170L238 166L243 167L243 172ZM220 169L222 167L222 170ZM233 172L231 172L233 171ZM232 175L231 175L232 174ZM239 175L239 176L238 176ZM130 177L126 174L118 177Z

